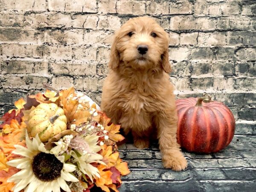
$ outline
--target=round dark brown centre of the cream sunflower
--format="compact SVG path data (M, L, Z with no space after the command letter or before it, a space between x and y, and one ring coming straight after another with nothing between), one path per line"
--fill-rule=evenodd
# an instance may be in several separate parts
M53 154L38 153L32 163L35 176L42 181L51 181L61 176L63 163Z

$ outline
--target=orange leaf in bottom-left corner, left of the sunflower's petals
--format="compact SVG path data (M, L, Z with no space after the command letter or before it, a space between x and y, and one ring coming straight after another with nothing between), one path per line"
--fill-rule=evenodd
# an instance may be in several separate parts
M15 186L15 183L7 182L7 179L17 173L19 169L15 167L10 167L8 172L1 170L0 171L0 192L12 192L12 188Z

